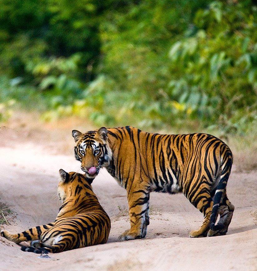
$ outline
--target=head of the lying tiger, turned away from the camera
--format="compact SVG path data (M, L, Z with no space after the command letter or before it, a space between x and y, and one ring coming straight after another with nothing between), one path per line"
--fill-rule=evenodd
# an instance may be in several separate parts
M78 197L80 192L94 194L91 182L83 175L77 172L66 172L59 170L61 179L58 184L57 193L63 203L66 199Z

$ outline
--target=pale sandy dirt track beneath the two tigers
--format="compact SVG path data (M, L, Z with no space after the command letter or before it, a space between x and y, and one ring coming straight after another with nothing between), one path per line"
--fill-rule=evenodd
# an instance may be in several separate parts
M13 232L53 221L60 206L56 195L59 169L80 169L73 157L70 132L66 144L57 135L53 137L53 132L49 134L49 127L47 131L33 129L0 129L0 201L17 214L11 225L3 227ZM126 191L102 170L93 189L111 217L107 244L42 259L0 237L0 269L257 270L257 226L250 215L257 210L257 169L239 172L237 163L235 160L227 187L235 212L225 236L190 239L189 232L201 225L202 214L182 194L151 193L146 238L118 242L118 236L129 228Z

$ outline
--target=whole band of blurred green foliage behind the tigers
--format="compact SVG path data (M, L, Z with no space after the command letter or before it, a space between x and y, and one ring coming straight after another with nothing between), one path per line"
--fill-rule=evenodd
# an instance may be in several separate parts
M35 104L44 120L76 114L96 126L249 132L254 3L3 0L2 120L14 99Z

